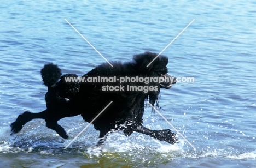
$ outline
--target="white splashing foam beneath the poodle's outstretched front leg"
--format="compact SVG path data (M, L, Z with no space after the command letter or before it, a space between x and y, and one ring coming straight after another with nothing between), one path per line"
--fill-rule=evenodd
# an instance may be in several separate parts
M173 151L182 151L184 141L176 143L175 145L168 144L167 142L160 142L142 134L132 134L127 137L123 133L112 133L108 135L107 140L100 147L91 146L86 152L90 155L101 155L102 152L127 152L140 153L142 151L156 152L156 153L170 153Z

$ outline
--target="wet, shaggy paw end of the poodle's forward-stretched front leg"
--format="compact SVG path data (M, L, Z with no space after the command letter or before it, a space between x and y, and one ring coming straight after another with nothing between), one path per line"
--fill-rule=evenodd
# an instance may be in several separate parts
M175 134L172 133L170 129L163 129L163 130L154 130L152 137L160 140L166 141L170 144L178 143L178 139L175 137Z

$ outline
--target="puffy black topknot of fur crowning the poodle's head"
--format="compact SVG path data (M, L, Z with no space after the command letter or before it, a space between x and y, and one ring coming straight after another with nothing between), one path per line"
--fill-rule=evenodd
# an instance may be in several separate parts
M150 72L153 70L158 70L166 67L168 63L168 58L162 55L160 55L159 57L157 56L158 55L156 53L152 53L152 52L144 52L138 55L134 55L133 61L135 62L136 69L139 72L146 73L147 71ZM155 60L153 61L153 59ZM149 63L150 65L148 65Z

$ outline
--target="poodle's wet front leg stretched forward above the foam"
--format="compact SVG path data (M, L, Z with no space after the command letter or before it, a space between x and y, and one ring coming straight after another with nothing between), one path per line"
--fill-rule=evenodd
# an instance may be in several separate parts
M149 135L160 141L166 141L171 144L174 144L178 141L178 139L175 137L175 134L172 133L170 129L151 130L146 127L140 126L137 127L135 131L138 133Z

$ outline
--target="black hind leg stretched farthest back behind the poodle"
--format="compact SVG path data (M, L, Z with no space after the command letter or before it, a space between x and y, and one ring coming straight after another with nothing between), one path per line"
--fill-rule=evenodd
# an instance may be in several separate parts
M32 113L29 111L25 111L21 115L18 116L15 122L11 123L11 135L19 133L19 131L24 127L24 125L35 118L45 118L45 113L47 110L44 110L39 113Z

